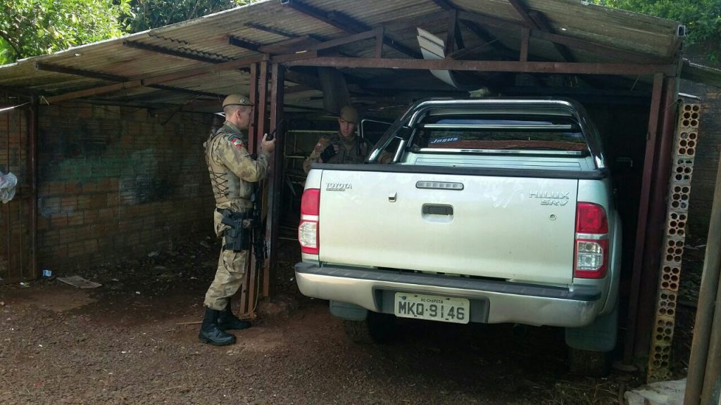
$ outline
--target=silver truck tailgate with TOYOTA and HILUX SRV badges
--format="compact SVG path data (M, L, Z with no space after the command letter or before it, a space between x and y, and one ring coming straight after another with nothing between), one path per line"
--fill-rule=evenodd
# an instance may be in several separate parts
M324 170L319 259L570 283L577 192L578 179Z

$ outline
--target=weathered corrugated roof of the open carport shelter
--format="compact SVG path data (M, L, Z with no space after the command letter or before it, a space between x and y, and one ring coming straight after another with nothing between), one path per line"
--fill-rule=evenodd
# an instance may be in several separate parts
M311 17L291 5L283 4L287 2L261 1L176 25L0 66L0 86L49 97L117 82L107 78L36 70L35 63L133 81L261 55L254 50L230 45L229 37L260 46L304 35L317 41L333 40L358 32L359 29L383 26L386 27L386 35L398 45L397 48L418 52L415 26L404 22L420 17L437 17L435 21L425 21L420 26L444 37L448 27L444 10L447 5L482 17L482 22L474 24L487 35L496 38L497 43L489 47L503 44L505 48L518 51L521 26L524 24L524 18L508 0L290 0L293 4L310 7L334 21L352 19L352 25L348 27L342 24L339 27L333 22ZM675 63L673 53L679 42L676 22L576 0L524 0L523 4L528 13L540 15L557 35L624 50L640 57L665 58L668 63ZM399 29L399 26L403 27ZM485 43L478 36L477 30L474 32L468 25L461 25L461 33L466 48ZM372 57L373 46L374 40L370 39L340 45L335 50L342 55ZM567 45L566 48L578 62L629 62L573 45ZM541 37L531 38L529 53L536 60L562 61L558 48ZM384 58L409 56L386 45ZM377 72L380 76L387 74L387 70ZM214 94L222 96L230 92L247 92L249 75L242 69L229 69L167 81L162 86L176 88L177 94L168 92L167 88L136 87L94 97L124 102L143 99L144 102L178 104L193 99L213 99ZM314 93L314 96L319 96L319 93Z

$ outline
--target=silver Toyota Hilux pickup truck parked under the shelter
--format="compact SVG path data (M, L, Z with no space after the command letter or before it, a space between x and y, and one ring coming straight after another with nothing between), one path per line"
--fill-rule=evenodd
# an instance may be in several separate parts
M572 370L603 373L618 318L613 196L575 102L417 102L366 164L309 172L298 288L359 341L386 339L396 317L562 326Z

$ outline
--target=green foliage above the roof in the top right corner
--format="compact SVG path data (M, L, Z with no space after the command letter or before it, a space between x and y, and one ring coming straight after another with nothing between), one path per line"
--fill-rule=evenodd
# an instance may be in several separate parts
M686 45L697 45L707 58L721 56L721 0L592 0L602 6L673 19L689 30Z

